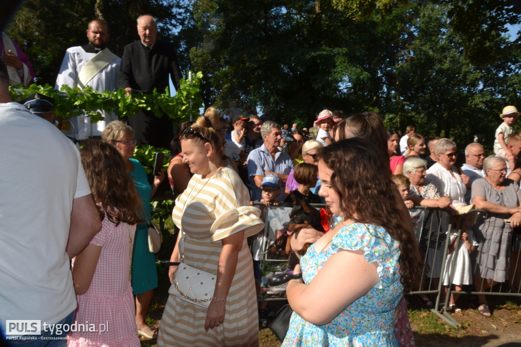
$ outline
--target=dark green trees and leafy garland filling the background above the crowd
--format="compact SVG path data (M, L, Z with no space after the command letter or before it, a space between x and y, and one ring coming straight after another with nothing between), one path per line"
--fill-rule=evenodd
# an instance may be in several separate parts
M463 148L475 134L491 145L501 109L521 107L521 41L519 33L509 40L505 27L521 23L521 10L511 0L27 0L6 32L39 84L53 85L65 49L86 43L95 4L114 53L138 39L135 18L151 13L159 33L179 45L180 65L202 71L201 83L184 85L179 104L167 94L68 90L74 101L59 102L63 118L146 108L181 121L189 100L194 113L203 102L222 108L238 100L309 127L324 108L374 110L399 133L414 124Z

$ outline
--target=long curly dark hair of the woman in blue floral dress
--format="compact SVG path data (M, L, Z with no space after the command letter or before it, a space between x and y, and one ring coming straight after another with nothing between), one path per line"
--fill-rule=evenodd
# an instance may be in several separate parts
M340 198L340 208L347 218L384 228L400 243L401 282L406 291L417 288L423 262L418 244L400 213L396 187L390 170L382 170L381 153L362 138L335 142L322 148L320 160L330 168L331 187ZM408 220L408 222L411 222Z

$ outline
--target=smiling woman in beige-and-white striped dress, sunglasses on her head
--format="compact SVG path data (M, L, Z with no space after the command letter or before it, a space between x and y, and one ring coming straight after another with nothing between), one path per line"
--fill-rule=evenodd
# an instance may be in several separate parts
M183 237L180 232L170 259L179 261L182 252L185 263L216 274L215 292L208 308L169 295L159 347L258 345L253 264L246 237L263 229L264 223L258 209L249 207L249 193L237 173L221 162L214 122L217 125L218 119L200 117L182 135L183 163L194 175L172 212ZM170 281L176 270L177 266L170 267Z

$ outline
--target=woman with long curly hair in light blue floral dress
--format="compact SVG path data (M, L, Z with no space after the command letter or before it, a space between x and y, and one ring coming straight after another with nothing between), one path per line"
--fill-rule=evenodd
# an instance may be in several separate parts
M393 217L400 201L390 170L379 169L381 155L359 138L319 157L319 195L342 219L302 256L295 273L303 278L288 283L294 312L283 346L398 346L394 309L418 283L421 262L413 234ZM315 241L293 239L293 250Z

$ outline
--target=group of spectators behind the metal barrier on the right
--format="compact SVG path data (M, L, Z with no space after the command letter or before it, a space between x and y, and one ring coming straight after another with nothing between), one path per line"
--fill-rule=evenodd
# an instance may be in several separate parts
M399 155L396 147L397 137L389 132L388 149L391 169L395 157L402 157L402 167L394 167L397 173L393 181L399 188L402 199L408 208L427 206L447 208L454 217L453 232L449 237L449 254L443 257L440 244L425 244L420 240L420 252L430 270L426 276L432 287L437 288L443 278L443 293L448 286L454 285L456 291L463 291L464 286L473 286L476 292L485 292L497 283L519 287L520 238L515 232L520 226L518 156L520 153L519 135L513 133L512 123L519 116L514 106L506 106L500 117L504 120L496 131L494 153L486 156L485 149L479 143L469 143L465 147L465 163L456 165L459 152L456 143L439 137L427 141L430 155L427 160L420 157L425 153L425 139L408 127L405 158ZM398 153L398 154L397 154ZM429 160L430 159L430 160ZM461 215L476 208L487 213L470 214L461 222ZM437 218L437 227L447 230L443 218ZM432 224L431 224L432 226ZM431 227L432 228L432 227ZM461 239L457 242L458 230ZM455 246L458 245L457 249ZM454 260L454 258L456 258ZM442 262L445 259L445 271L442 274ZM453 276L452 282L449 280ZM472 287L470 287L472 288ZM457 293L451 295L449 312L461 312L456 305ZM432 305L427 296L421 296L424 303ZM442 301L444 300L442 295ZM478 295L474 303L478 312L491 316L491 309L485 295Z

